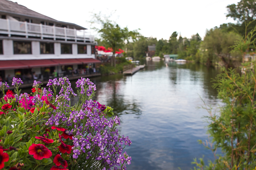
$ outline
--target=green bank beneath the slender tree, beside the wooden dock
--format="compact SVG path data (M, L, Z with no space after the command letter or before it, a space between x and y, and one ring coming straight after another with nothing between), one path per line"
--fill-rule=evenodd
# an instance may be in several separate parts
M125 57L118 57L116 58L116 68L111 66L110 63L102 63L102 65L100 65L100 72L102 75L122 73L123 66L129 64L132 63L126 60Z

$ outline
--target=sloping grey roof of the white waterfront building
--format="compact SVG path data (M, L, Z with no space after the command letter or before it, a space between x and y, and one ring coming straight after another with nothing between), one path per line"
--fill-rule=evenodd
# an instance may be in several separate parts
M18 14L18 15L32 17L32 18L38 18L38 19L43 19L43 20L47 20L47 21L52 21L55 23L70 24L70 25L76 26L76 28L79 28L79 29L86 29L82 26L78 26L73 23L61 22L61 21L55 20L53 18L47 17L47 16L40 14L38 12L35 12L25 6L19 5L17 2L14 3L9 0L0 0L0 12L4 12L7 14Z

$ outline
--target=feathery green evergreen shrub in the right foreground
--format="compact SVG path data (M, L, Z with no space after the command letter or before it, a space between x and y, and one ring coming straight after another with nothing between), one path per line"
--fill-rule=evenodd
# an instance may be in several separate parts
M256 166L256 62L244 67L244 74L222 68L223 73L214 80L213 87L224 105L219 113L204 107L209 112L207 132L211 139L206 147L213 153L220 148L222 154L215 155L215 162L205 167L195 161L201 170L254 170Z

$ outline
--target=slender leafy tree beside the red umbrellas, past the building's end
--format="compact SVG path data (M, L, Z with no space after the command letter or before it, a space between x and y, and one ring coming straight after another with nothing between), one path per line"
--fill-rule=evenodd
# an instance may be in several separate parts
M136 41L140 37L137 30L129 31L127 27L121 28L115 22L109 20L109 17L102 17L101 14L93 14L93 19L90 23L98 23L101 28L93 27L100 33L100 40L105 44L106 48L111 48L113 55L111 57L111 66L116 67L115 53L120 48L123 48L125 43L131 40Z

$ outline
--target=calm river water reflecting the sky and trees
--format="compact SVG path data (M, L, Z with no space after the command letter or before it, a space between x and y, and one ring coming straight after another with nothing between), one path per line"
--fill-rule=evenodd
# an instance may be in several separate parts
M207 139L207 104L218 106L211 78L215 68L186 63L148 62L133 76L113 75L91 79L96 100L114 108L120 117L119 134L133 142L125 150L132 156L128 170L189 170L193 158L213 160L197 140Z

